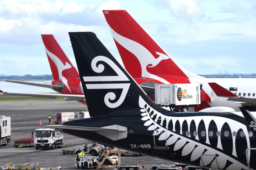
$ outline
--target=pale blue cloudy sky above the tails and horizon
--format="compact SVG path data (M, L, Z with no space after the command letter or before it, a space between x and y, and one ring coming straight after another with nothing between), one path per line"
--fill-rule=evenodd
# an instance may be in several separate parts
M53 34L75 65L67 33L95 32L121 61L102 13L118 9L189 71L256 73L254 0L0 0L0 75L51 74L41 34Z

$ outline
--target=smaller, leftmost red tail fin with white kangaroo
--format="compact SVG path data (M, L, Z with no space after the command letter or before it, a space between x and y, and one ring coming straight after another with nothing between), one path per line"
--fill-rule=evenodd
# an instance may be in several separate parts
M41 35L54 80L79 78L76 68L63 52L53 35Z

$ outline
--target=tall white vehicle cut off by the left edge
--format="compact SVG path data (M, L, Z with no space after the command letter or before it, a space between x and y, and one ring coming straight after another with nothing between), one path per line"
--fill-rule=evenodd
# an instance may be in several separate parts
M0 116L0 146L11 141L11 117Z

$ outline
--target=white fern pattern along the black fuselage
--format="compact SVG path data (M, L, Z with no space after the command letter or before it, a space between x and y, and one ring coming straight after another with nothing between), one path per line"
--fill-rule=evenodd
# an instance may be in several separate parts
M231 131L238 131L239 129L242 129L245 132L246 141L247 141L247 147L250 147L250 139L248 135L247 128L244 124L237 122L235 120L231 120L229 118L218 118L216 116L197 116L195 117L171 117L171 116L165 116L147 104L142 97L139 97L139 106L141 108L141 120L145 121L144 126L148 126L149 131L153 131L154 135L159 135L158 140L163 141L166 140L166 146L174 145L174 151L177 151L181 149L182 147L182 156L186 156L190 154L190 161L195 161L198 158L200 158L200 166L208 165L211 163L211 168L221 168L223 169L226 166L227 160L231 162L229 167L227 167L227 170L234 170L234 169L249 169L247 165L242 164L241 162L235 160L234 158L215 150L214 148L211 148L209 146L203 145L199 142L198 135L196 136L195 140L192 140L192 138L189 136L182 136L182 131L175 132L175 122L178 120L180 123L180 126L182 126L183 121L187 121L188 128L190 128L191 121L194 121L196 124L196 131L198 130L198 125L201 120L204 121L205 127L206 127L206 144L210 145L209 142L209 134L208 128L210 122L213 120L218 128L218 131L221 131L221 128L225 122L228 122L230 125ZM173 123L173 129L169 130L168 123L172 121ZM165 125L166 124L166 125ZM182 129L182 127L180 127ZM190 129L188 129L190 131ZM232 155L237 157L236 148L235 148L235 137L233 137L233 151ZM197 142L198 141L198 142ZM217 148L223 150L221 145L221 138L218 137L218 143ZM206 150L206 151L205 151ZM205 152L204 152L205 151ZM216 156L201 156L201 155L216 155ZM249 154L249 153L248 153ZM248 155L250 158L250 155ZM216 161L217 158L217 161Z

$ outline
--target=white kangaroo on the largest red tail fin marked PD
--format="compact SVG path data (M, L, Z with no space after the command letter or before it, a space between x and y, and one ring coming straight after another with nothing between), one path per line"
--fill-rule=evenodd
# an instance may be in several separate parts
M149 50L147 50L141 44L139 44L133 40L130 40L126 37L123 37L123 36L119 35L117 32L115 32L111 27L109 27L109 28L110 28L110 31L111 31L114 39L120 45L122 45L125 49L127 49L129 52L133 53L138 58L138 60L141 64L141 77L148 77L148 78L158 80L162 83L169 84L169 82L166 81L165 79L158 77L154 74L151 74L147 71L147 67L155 67L156 65L159 64L160 61L169 59L170 58L169 56L166 56L165 54L156 52L156 54L158 54L159 57L155 58L149 52ZM136 49L136 50L134 50L134 49ZM141 51L141 53L138 53L138 51ZM143 60L143 58L146 58L146 60Z

